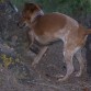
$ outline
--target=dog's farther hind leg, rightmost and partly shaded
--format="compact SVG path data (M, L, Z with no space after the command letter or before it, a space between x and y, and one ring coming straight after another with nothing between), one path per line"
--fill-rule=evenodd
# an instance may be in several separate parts
M80 66L80 69L79 69L79 71L76 73L76 77L80 77L81 73L82 73L82 70L83 70L83 68L84 68L84 60L86 60L86 59L82 57L82 50L81 50L81 49L79 49L79 50L77 52L76 57L77 57L77 59L78 59L78 61L79 61L79 66Z

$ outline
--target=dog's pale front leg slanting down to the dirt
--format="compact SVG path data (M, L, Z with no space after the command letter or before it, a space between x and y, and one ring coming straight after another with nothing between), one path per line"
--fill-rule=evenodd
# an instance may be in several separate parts
M47 50L47 46L44 46L41 52L36 55L36 57L34 58L34 61L32 62L32 66L35 67L38 61L41 60L42 56L45 54L45 52Z

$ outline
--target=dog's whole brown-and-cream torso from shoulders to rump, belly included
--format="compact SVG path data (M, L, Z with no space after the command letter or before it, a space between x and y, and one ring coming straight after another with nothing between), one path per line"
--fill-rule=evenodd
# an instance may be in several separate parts
M75 39L83 39L86 33L84 27L76 20L61 13L48 13L37 18L32 23L32 29L37 36L36 39L41 43L47 43L56 38L61 38L64 42L67 39L75 42Z

